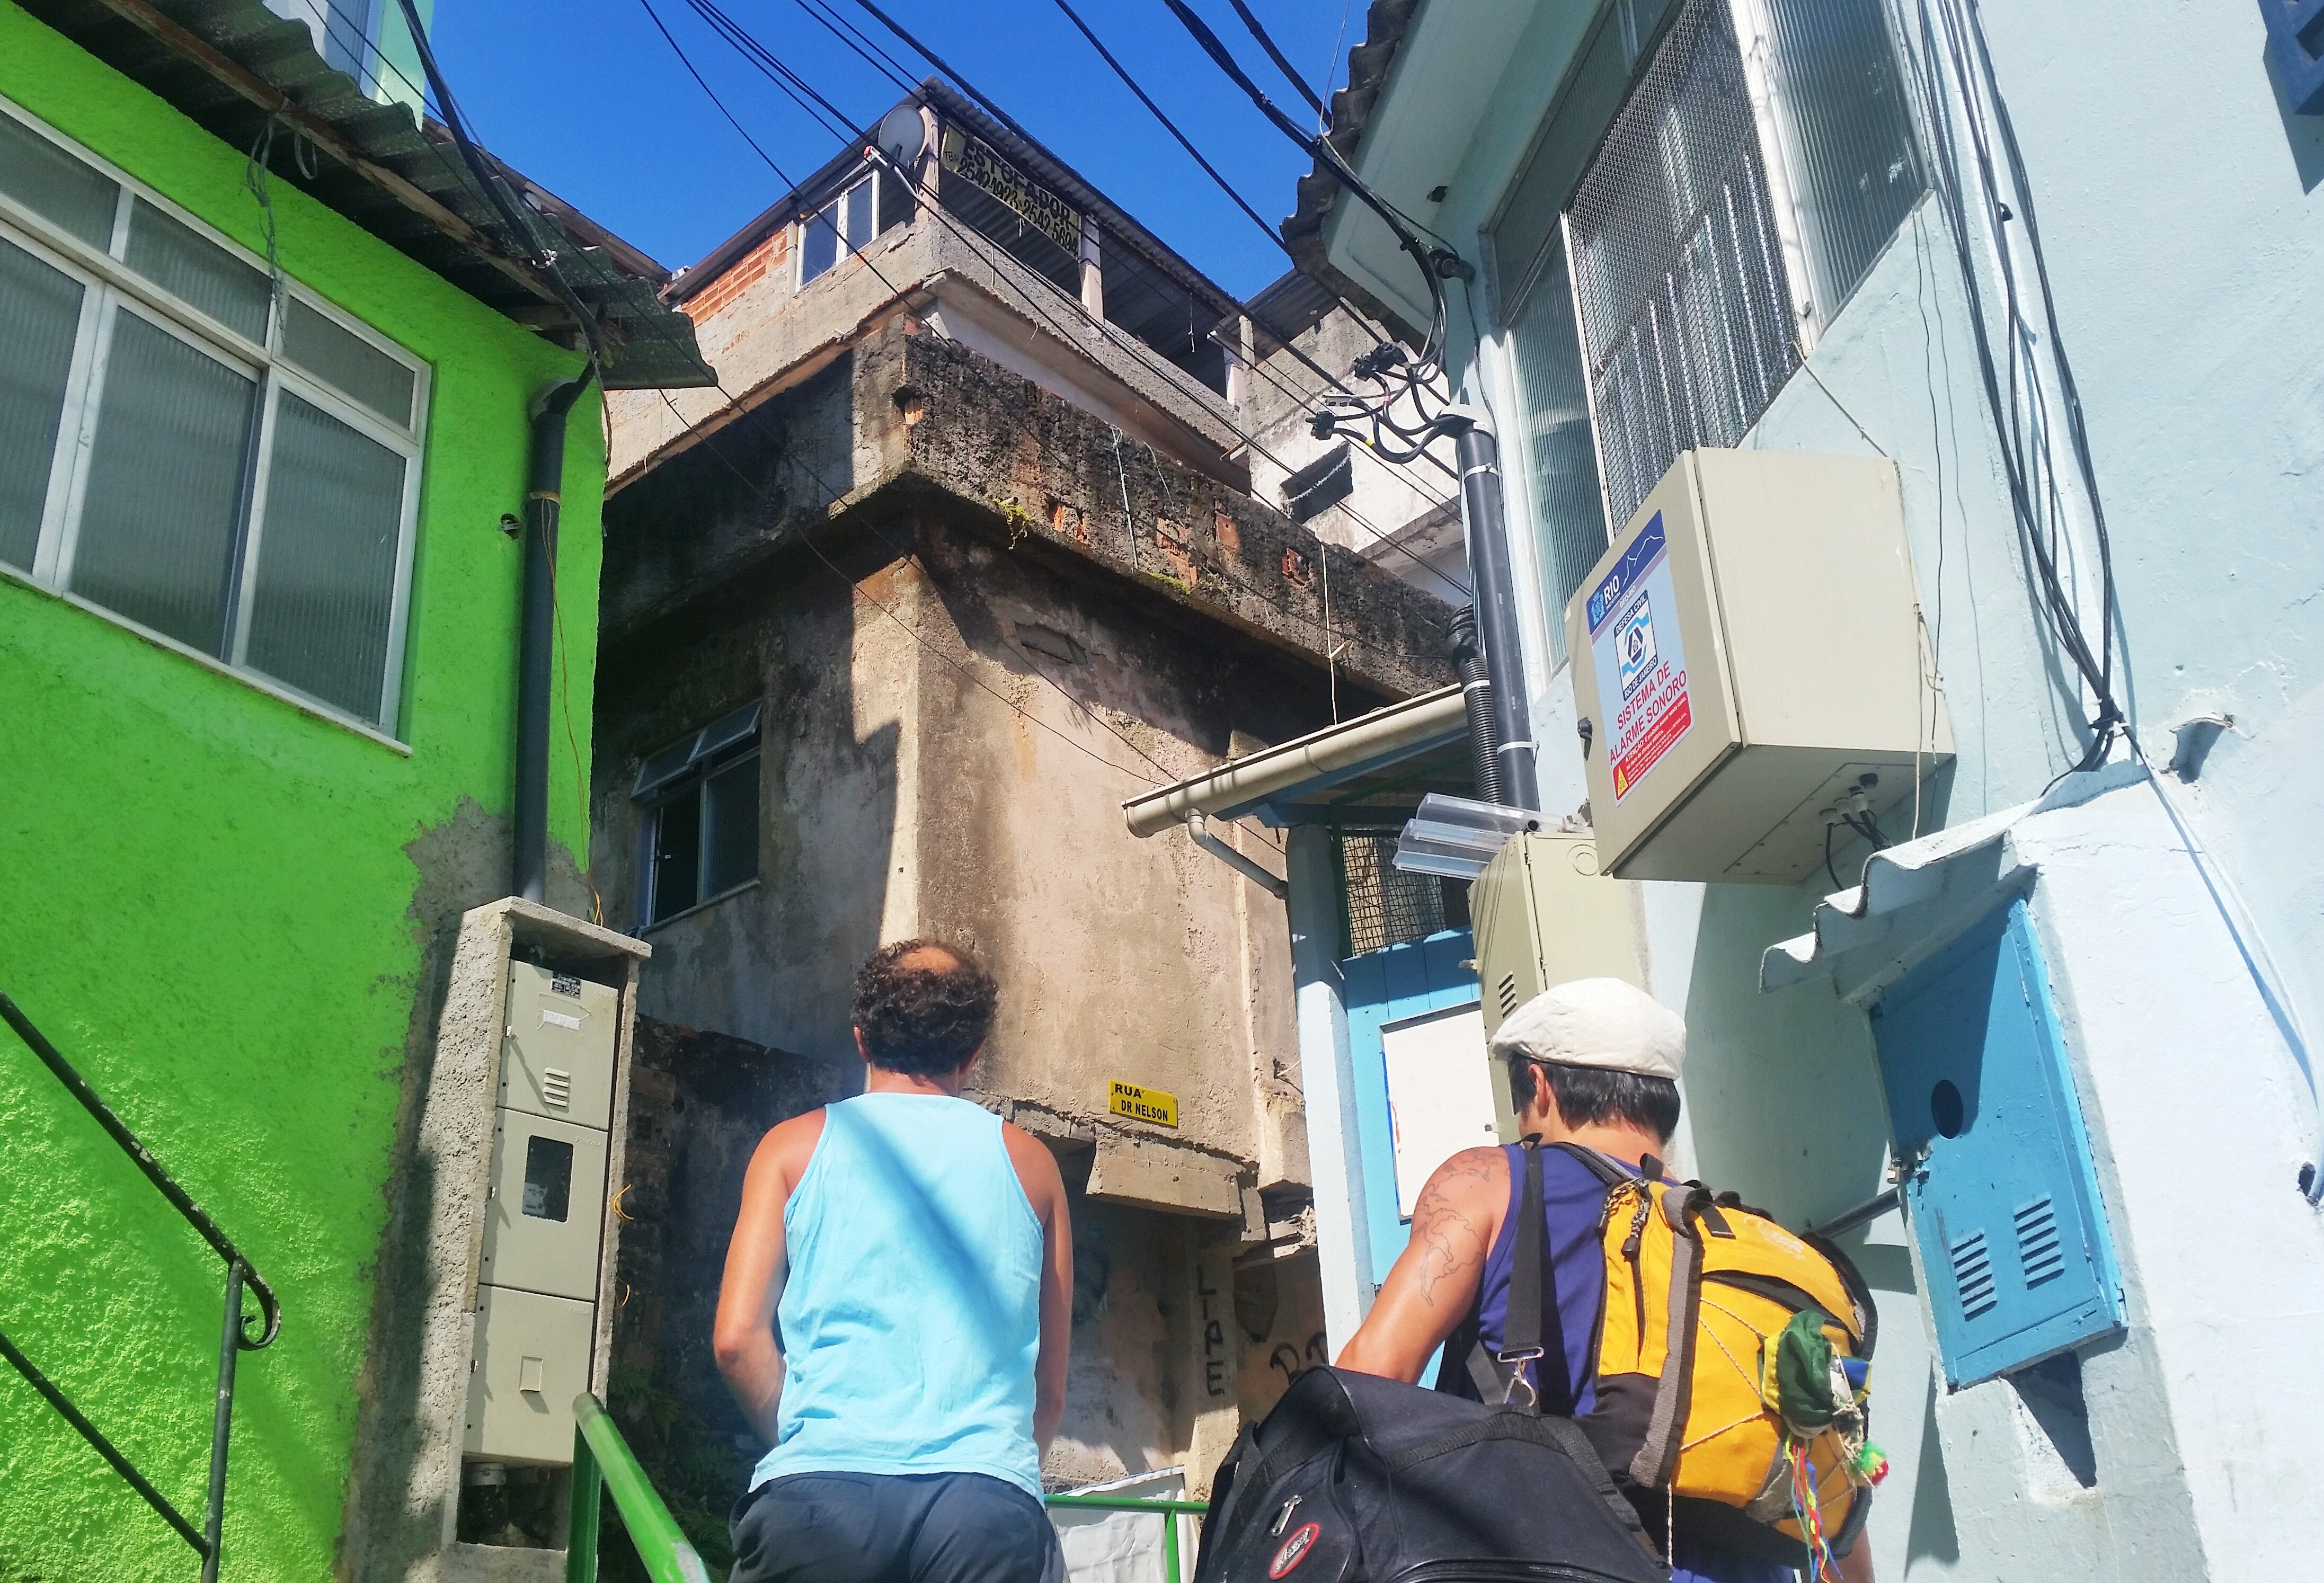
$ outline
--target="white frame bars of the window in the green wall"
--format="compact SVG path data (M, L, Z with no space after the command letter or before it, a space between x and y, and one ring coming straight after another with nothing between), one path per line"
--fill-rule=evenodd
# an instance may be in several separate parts
M0 193L0 237L21 246L33 258L72 277L81 284L81 321L74 330L72 346L72 372L65 379L65 407L56 432L56 456L49 467L49 495L42 507L40 539L33 553L30 579L23 576L19 567L0 567L0 576L30 581L33 586L53 593L56 597L86 609L105 621L123 625L139 637L181 653L191 660L209 665L211 669L223 669L237 681L244 681L263 693L284 697L286 702L307 709L309 714L321 714L339 725L363 732L409 751L400 737L402 702L404 702L404 662L409 651L409 628L411 628L411 567L418 539L418 502L421 502L421 474L428 446L428 397L430 397L430 365L411 353L409 349L386 339L372 330L360 318L342 311L325 298L307 291L290 277L274 277L267 260L251 253L246 246L237 244L232 237L221 235L207 225L200 216L188 214L184 207L172 202L167 195L153 191L144 181L137 181L125 170L112 165L109 160L84 149L72 137L65 137L40 116L33 116L14 100L0 98L0 114L14 119L19 126L28 128L37 137L49 139L63 153L88 165L91 170L105 174L119 188L119 200L114 207L114 225L107 237L107 246L98 249L81 237L67 232L56 221L23 207L7 193ZM267 307L267 339L253 342L239 330L211 318L202 309L184 302L160 286L146 281L121 253L128 246L128 225L135 205L144 200L167 219L186 225L205 242L228 251L239 263L256 270L260 277L272 277L279 281L279 298ZM409 423L395 423L363 402L342 395L330 384L302 372L281 351L284 335L284 305L295 298L304 307L314 309L330 323L339 325L356 339L365 342L374 351L395 360L411 372L411 418ZM98 437L98 411L105 400L105 374L112 351L112 325L123 311L144 318L146 323L160 328L163 332L195 346L205 356L232 367L258 384L260 407L258 407L258 444L256 444L256 470L249 481L249 500L244 521L237 525L237 549L239 565L232 567L232 609L228 611L230 646L221 658L205 649L184 644L167 632L156 632L116 609L109 609L95 600L72 593L72 560L79 549L81 507L88 488L88 463ZM274 421L281 409L284 393L293 393L307 404L325 411L328 416L346 423L365 439L372 439L381 449L400 456L404 460L404 493L397 504L397 546L395 546L395 586L388 604L388 642L386 642L386 665L381 674L381 697L379 718L370 721L358 714L349 714L342 704L321 700L297 686L281 681L267 672L251 669L249 653L249 628L251 628L251 600L256 593L258 551L265 539L265 507L267 507L267 484L274 467Z

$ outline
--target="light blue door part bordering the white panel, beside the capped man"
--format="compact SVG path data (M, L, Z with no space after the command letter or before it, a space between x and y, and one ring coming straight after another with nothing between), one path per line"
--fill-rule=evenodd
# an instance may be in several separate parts
M1348 1065L1355 1079L1355 1134L1364 1181L1360 1234L1371 1239L1373 1281L1387 1278L1387 1267L1404 1253L1404 1241L1411 1234L1397 1213L1397 1132L1387 1111L1387 1046L1380 1030L1427 1011L1476 1004L1476 969L1469 967L1473 955L1476 939L1469 930L1446 930L1341 962L1348 995Z

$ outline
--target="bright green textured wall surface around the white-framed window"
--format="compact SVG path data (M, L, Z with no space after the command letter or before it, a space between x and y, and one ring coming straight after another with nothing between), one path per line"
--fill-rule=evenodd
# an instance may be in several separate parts
M0 0L0 93L263 249L244 156ZM225 1576L332 1571L421 925L407 844L504 818L525 402L576 358L288 181L284 270L435 365L400 753L0 579L0 990L281 1292L242 1358ZM567 449L551 832L586 851L595 400ZM474 821L474 809L469 811ZM442 844L456 846L456 844ZM462 851L497 851L467 841ZM456 904L504 890L472 860ZM198 1513L216 1258L0 1030L0 1330ZM191 1578L193 1553L0 1369L0 1578Z

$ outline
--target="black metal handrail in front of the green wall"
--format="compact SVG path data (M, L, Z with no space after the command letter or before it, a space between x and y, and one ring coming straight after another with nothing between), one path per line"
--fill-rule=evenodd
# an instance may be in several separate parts
M235 1360L239 1353L256 1353L274 1341L284 1327L281 1304L274 1299L274 1288L267 1285L256 1269L251 1269L251 1262L242 1258L242 1251L232 1244L232 1239L218 1230L218 1223L202 1213L202 1206L195 1204L181 1186L177 1186L177 1179L170 1176L170 1172L160 1169L160 1162L146 1153L146 1146L137 1141L137 1134L130 1132L119 1116L114 1116L112 1106L98 1097L98 1090L93 1090L81 1074L72 1069L72 1062L65 1060L37 1027L33 1027L33 1020L7 995L0 995L0 1020L7 1020L7 1025L16 1030L16 1037L23 1039L35 1055L40 1055L42 1065L56 1074L56 1081L81 1102L81 1109L88 1111L100 1127L105 1127L105 1134L121 1146L121 1153L125 1153L137 1169L146 1174L146 1181L151 1181L165 1199L170 1199L170 1206L184 1216L186 1225L198 1230L202 1241L207 1241L211 1251L225 1260L225 1323L218 1337L218 1395L209 1418L209 1495L202 1506L200 1530L195 1530L193 1523L186 1520L186 1513L181 1513L160 1490L153 1488L153 1481L139 1474L130 1460L121 1455L109 1439L105 1439L98 1425L88 1423L88 1416L81 1413L81 1409L77 1409L46 1374L33 1367L33 1360L26 1358L14 1341L0 1334L0 1358L7 1358L16 1374L26 1376L33 1383L33 1390L37 1390L84 1441L95 1446L98 1455L112 1462L114 1471L121 1474L121 1478L137 1490L137 1495L144 1497L153 1511L160 1513L163 1523L174 1527L177 1537L193 1546L193 1553L202 1557L202 1583L216 1583L218 1532L225 1525L225 1441L235 1427ZM258 1297L260 1330L256 1339L249 1334L242 1316L244 1288Z

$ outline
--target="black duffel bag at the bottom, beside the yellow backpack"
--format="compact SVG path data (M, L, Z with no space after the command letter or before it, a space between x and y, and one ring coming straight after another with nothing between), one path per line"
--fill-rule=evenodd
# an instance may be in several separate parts
M1195 1583L1669 1583L1566 1418L1308 1369L1211 1485Z

